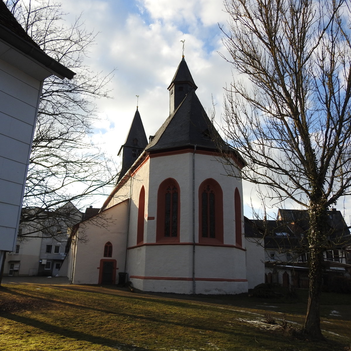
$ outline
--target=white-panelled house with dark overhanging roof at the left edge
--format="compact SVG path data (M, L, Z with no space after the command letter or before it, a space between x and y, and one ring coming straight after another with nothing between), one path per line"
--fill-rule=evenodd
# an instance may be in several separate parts
M0 268L16 245L42 83L74 73L50 58L0 0Z

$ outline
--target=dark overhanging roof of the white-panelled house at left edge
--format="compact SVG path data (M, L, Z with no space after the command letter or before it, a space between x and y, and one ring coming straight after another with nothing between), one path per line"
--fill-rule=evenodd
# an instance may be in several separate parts
M46 66L49 71L52 71L62 79L72 79L75 75L70 69L61 65L40 49L39 45L29 37L22 26L16 21L2 0L0 0L0 40Z

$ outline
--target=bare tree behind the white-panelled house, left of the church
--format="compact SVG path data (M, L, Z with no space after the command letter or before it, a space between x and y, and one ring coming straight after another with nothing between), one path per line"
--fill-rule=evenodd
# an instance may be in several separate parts
M51 76L44 82L20 220L33 229L23 236L56 236L51 229L75 215L62 214L63 205L72 201L82 210L117 180L111 160L90 137L94 100L108 97L110 78L84 64L95 34L80 17L67 26L60 4L50 0L8 0L7 6L45 53L76 73L72 80Z

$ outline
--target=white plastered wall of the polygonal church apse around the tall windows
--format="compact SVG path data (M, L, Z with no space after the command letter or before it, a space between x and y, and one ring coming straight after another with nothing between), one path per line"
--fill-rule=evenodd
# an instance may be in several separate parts
M198 243L198 191L207 178L215 179L223 190L224 231L227 245L235 245L234 191L241 183L233 177L222 176L223 166L213 156L195 155L195 241ZM149 168L147 168L149 170ZM180 187L180 245L144 245L128 250L128 273L134 287L144 291L193 293L193 153L167 154L150 159L150 174L138 174L140 179L150 177L146 195L147 221L145 240L156 242L157 193L159 185L173 178ZM140 172L140 170L138 171ZM141 183L143 183L141 181ZM139 195L140 187L133 185L133 193ZM146 189L145 189L146 190ZM137 204L133 196L132 203ZM131 218L137 220L137 206L131 207ZM136 236L137 223L130 226L130 240ZM134 243L135 240L133 240ZM136 241L135 241L136 242ZM186 244L188 245L186 245ZM184 245L185 244L185 245ZM245 251L235 247L195 247L196 293L219 294L247 291ZM152 279L157 277L155 279ZM199 279L199 281L198 281ZM203 280L201 280L203 279Z

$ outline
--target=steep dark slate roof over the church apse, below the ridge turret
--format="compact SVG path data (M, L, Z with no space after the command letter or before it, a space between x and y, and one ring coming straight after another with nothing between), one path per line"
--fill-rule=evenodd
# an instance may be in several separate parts
M147 151L179 149L184 147L218 150L225 148L223 139L208 118L195 90L192 89L159 128Z

